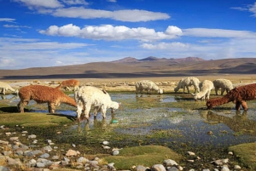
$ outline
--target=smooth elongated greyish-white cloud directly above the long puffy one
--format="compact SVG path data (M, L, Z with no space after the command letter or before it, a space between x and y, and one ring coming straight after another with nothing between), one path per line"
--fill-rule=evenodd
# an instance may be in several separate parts
M69 18L81 18L81 19L96 19L96 18L108 18L112 20L121 20L129 22L149 21L149 20L167 20L170 19L170 15L166 13L157 13L146 10L127 9L107 11L100 9L84 9L84 7L71 7L67 9L56 9L53 16L57 17L69 17Z

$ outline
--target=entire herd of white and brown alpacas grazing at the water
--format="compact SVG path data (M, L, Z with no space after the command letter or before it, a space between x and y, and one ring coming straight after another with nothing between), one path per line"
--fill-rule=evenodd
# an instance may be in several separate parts
M216 79L213 81L203 80L199 81L197 77L184 77L174 88L174 92L180 88L183 88L183 94L185 89L193 86L195 92L191 93L194 100L207 100L207 109L218 105L224 105L232 101L236 104L236 110L240 110L241 107L247 110L246 100L256 99L256 83L249 84L240 87L233 87L230 80ZM90 117L90 109L94 110L93 114L96 117L98 112L102 113L102 117L106 118L106 112L108 109L115 111L119 109L120 103L113 101L111 96L100 88L92 86L81 86L79 81L75 79L65 80L55 88L43 85L28 85L22 88L14 89L8 83L0 82L0 88L2 88L2 94L5 94L7 90L18 94L20 102L17 107L20 112L24 112L24 106L28 105L30 100L36 101L38 104L47 103L49 113L55 113L55 108L61 103L72 105L77 109L77 118L80 121L81 115L84 115L86 119ZM65 90L71 90L73 88L74 98L68 96L61 91L61 88ZM147 94L151 94L155 91L157 94L163 94L163 89L156 83L150 80L142 80L135 83L136 94L143 94L143 90L147 91ZM218 90L221 90L221 95L226 94L220 98L210 99L212 89L215 90L215 94L218 95Z

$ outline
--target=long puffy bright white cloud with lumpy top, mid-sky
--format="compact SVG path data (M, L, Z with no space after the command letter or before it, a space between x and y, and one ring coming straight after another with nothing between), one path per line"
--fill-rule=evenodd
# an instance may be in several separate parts
M81 37L86 39L96 40L125 40L134 39L140 41L154 41L161 39L172 39L182 34L181 29L176 26L168 26L166 32L156 32L154 29L148 29L145 27L129 28L127 26L73 26L69 24L66 26L49 26L47 30L39 31L41 34L49 36L61 36L61 37Z

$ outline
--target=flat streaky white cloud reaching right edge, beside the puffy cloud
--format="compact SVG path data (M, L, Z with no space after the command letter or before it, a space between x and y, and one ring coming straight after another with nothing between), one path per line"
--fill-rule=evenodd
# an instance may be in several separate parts
M222 38L256 38L256 33L252 32L252 31L190 28L190 29L183 29L183 36L222 37Z

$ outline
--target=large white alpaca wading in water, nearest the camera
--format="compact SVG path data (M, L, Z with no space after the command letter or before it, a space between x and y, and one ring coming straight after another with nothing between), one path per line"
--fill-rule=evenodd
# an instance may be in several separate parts
M78 120L83 109L85 118L89 119L91 108L94 109L94 117L96 117L98 111L101 111L103 118L106 118L106 112L109 108L112 112L119 108L119 103L112 101L106 91L91 86L82 86L75 91L75 100L78 104Z

